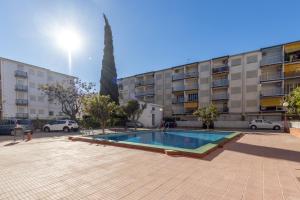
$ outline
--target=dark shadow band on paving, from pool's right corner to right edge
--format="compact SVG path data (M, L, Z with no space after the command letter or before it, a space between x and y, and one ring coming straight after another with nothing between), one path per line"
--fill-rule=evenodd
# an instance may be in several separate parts
M216 149L214 152L211 152L209 155L204 157L203 160L211 161L224 150L226 150L265 158L273 158L300 163L300 151L241 143L238 140L239 138L235 141L231 141L225 144L223 148Z

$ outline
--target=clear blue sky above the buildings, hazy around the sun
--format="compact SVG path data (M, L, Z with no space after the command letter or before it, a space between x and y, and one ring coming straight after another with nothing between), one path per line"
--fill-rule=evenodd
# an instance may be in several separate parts
M61 73L57 30L81 45L72 75L99 88L105 13L118 78L300 40L297 0L0 0L0 57Z

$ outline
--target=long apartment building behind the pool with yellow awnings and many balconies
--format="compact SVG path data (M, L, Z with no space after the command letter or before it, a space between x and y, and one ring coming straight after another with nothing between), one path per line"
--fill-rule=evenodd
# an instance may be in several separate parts
M195 120L213 103L223 120L281 120L283 97L300 86L300 41L118 79L120 102L163 106L165 117Z

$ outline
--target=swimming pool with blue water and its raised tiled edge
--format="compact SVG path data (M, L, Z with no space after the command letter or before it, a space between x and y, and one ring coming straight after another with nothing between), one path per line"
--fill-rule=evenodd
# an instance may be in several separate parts
M135 131L107 135L69 137L73 141L127 147L166 153L203 157L224 143L239 136L233 131Z

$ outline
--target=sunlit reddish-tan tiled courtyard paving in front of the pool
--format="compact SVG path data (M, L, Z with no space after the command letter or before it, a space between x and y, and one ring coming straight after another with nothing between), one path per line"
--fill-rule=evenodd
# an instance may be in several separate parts
M204 159L0 137L0 199L299 200L300 138L246 134Z

